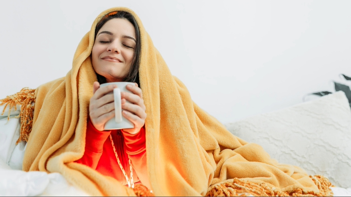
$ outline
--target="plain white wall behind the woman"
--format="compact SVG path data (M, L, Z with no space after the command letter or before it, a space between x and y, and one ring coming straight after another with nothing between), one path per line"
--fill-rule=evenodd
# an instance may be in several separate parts
M0 98L63 77L95 17L134 10L192 99L222 123L303 102L351 75L351 1L0 3Z

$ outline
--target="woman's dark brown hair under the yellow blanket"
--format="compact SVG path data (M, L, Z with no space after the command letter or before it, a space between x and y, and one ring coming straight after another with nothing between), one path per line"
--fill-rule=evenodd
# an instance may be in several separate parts
M96 28L95 28L95 37L94 40L96 39L97 32L102 28L102 26L105 25L105 23L112 18L123 18L127 19L135 28L135 35L136 35L136 45L134 49L134 57L130 66L129 73L124 81L126 82L136 82L139 87L140 87L140 82L139 82L139 65L140 65L140 53L141 53L141 43L140 43L140 31L139 31L139 26L134 18L134 16L128 12L124 11L118 11L118 12L112 12L109 14L106 14L101 18L101 20L97 23ZM97 81L100 84L106 83L106 78L97 74Z

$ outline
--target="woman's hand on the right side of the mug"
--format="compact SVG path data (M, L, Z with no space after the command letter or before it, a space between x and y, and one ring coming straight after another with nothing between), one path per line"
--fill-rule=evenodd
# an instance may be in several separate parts
M136 134L145 125L146 107L144 105L142 89L137 83L127 85L127 89L132 92L121 92L122 115L134 124L134 128L122 129L124 132ZM130 102L128 103L127 100Z

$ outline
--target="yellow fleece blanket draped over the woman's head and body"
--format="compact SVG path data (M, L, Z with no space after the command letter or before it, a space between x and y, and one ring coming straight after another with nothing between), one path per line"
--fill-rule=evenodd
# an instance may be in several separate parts
M96 18L79 43L72 69L65 77L32 92L35 106L24 170L59 172L92 196L143 195L74 162L84 154L89 101L97 81L90 57L96 24L115 11L131 13L140 28L139 74L147 113L146 165L153 195L332 195L326 178L279 164L259 145L234 136L200 109L185 85L172 76L139 17L122 7L106 10Z

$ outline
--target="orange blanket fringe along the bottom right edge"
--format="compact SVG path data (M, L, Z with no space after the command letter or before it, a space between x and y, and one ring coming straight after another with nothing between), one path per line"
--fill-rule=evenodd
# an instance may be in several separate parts
M265 183L256 184L235 178L232 183L219 183L212 185L207 192L207 197L332 197L334 194L329 180L321 175L310 176L319 189L319 193L305 192L296 189L293 192L281 192L271 188Z

